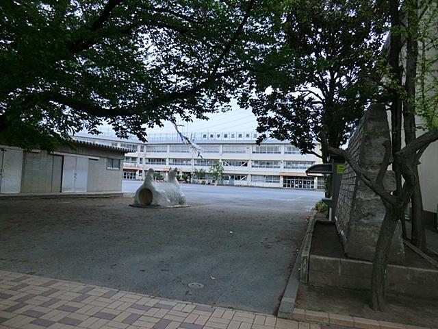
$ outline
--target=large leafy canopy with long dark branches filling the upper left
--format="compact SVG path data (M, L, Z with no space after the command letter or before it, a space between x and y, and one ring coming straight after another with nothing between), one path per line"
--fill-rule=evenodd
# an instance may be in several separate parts
M51 148L103 120L144 140L218 110L272 34L255 2L1 1L0 140Z

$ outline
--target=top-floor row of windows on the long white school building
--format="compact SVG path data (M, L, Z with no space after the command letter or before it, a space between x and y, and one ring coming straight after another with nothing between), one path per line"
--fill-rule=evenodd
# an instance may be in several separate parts
M113 143L110 143L112 146ZM138 149L138 146L140 148ZM145 147L146 146L146 147ZM219 153L219 145L200 145L203 149L203 153ZM133 152L140 151L147 153L167 153L168 145L137 145L130 143L120 143L120 147L129 149ZM223 145L222 153L231 154L245 154L248 153L249 146L246 145ZM170 153L191 153L192 148L190 145L169 145ZM281 147L279 145L260 145L253 146L254 154L281 154ZM300 154L300 149L293 146L285 147L285 154Z

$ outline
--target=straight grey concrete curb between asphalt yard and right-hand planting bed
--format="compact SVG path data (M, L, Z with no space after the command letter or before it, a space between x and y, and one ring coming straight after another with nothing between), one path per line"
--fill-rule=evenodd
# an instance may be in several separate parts
M309 216L309 223L307 224L307 230L305 232L305 235L302 239L300 251L298 252L298 255L296 256L294 268L292 269L292 272L290 273L289 280L287 280L287 285L285 292L283 293L283 297L281 298L279 311L277 312L277 317L283 318L283 319L293 319L293 311L295 306L295 298L296 293L298 291L298 286L300 285L300 265L301 265L301 256L302 251L305 249L305 246L307 244L307 236L313 232L313 222L315 221L315 210L311 210L311 214Z

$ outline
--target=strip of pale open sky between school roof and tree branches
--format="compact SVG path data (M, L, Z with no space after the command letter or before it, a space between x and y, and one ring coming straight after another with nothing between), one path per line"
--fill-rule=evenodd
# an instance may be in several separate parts
M251 110L243 110L233 103L229 112L209 114L208 121L194 119L193 122L178 121L179 130L183 133L193 132L255 132L257 120ZM101 127L103 132L111 132L110 125ZM148 129L147 133L172 133L175 127L169 121L164 122L164 127Z

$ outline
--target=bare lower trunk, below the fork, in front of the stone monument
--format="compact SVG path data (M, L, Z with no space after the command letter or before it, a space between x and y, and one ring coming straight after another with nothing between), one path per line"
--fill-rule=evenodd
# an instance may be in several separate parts
M371 308L383 310L385 308L385 281L386 269L391 248L392 238L403 209L398 209L385 203L385 217L383 218L380 234L376 244L371 278Z

